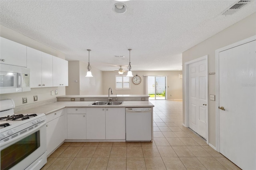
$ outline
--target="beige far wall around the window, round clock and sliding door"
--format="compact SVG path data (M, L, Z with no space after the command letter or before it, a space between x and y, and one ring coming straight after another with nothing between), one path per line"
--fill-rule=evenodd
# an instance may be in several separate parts
M126 74L126 73L124 73ZM108 94L108 88L111 87L113 94L119 95L142 95L144 94L144 75L153 76L167 76L167 99L182 99L182 79L179 79L179 74L182 71L132 71L133 75L138 74L142 78L140 84L135 85L132 83L132 77L130 79L130 90L116 90L115 89L115 77L118 75L114 71L103 71L103 95ZM168 87L169 86L169 87ZM170 96L172 95L172 96Z

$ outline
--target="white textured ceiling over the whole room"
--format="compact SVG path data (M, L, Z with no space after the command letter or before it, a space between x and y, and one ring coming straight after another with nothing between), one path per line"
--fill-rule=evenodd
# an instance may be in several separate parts
M181 70L182 52L256 11L256 1L221 15L236 0L1 0L0 24L102 71ZM116 58L114 55L125 55Z

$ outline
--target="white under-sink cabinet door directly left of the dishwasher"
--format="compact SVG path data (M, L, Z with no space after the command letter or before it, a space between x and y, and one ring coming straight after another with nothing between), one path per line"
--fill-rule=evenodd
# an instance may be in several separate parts
M125 108L106 108L106 139L125 139Z

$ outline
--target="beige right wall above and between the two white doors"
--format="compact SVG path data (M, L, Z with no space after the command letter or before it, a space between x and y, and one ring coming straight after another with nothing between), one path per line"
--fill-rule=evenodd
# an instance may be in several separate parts
M244 40L248 37L256 35L256 13L237 22L236 24L226 28L222 32L208 38L204 42L184 51L182 53L182 65L187 61L208 55L208 72L215 72L215 50L226 45ZM184 69L183 69L184 71ZM183 73L184 74L184 73ZM216 95L216 77L208 76L208 95ZM184 81L184 80L183 80ZM184 83L183 83L184 88ZM184 93L183 93L184 94ZM184 99L184 96L183 96ZM216 106L215 101L208 102L208 122L209 122L209 143L216 146ZM184 100L183 100L183 123L184 121Z

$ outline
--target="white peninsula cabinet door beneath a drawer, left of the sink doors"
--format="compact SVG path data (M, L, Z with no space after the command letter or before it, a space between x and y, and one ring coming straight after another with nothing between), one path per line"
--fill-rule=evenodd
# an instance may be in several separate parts
M68 114L68 139L86 139L86 114Z

